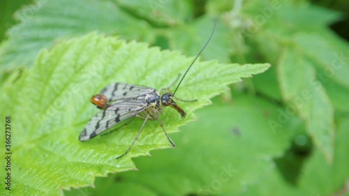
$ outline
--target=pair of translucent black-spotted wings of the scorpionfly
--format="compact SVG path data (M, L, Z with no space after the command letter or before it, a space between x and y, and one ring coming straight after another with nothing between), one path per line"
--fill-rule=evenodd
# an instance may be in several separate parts
M132 88L133 86L133 88ZM116 126L147 109L146 97L154 94L154 89L133 84L114 83L101 91L109 101L109 105L87 123L79 140L87 141L103 131Z

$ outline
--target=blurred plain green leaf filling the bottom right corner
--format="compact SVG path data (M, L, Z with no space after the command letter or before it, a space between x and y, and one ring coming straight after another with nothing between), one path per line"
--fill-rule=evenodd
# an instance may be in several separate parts
M333 164L326 164L321 152L315 150L304 166L299 179L299 189L305 193L304 195L348 194L346 188L349 179L348 137L349 120L346 117L338 123Z

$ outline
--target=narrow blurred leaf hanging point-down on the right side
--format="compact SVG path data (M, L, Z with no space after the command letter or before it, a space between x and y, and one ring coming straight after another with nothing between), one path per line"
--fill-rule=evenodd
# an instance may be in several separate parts
M286 48L279 62L279 82L288 102L288 115L297 112L306 119L308 133L332 162L334 111L325 89L315 78L315 68L296 50Z

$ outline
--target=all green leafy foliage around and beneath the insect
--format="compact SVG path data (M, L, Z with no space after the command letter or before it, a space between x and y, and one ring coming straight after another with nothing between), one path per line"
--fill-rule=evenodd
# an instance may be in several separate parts
M343 28L347 13L334 8L349 6L331 2L3 1L1 119L17 117L12 193L348 195L349 28ZM221 64L198 63L179 89L188 99L199 98L183 104L187 119L171 111L162 117L170 133L181 126L170 134L176 149L163 149L169 144L151 122L130 156L162 150L117 163L123 149L115 144L130 144L142 121L110 138L77 141L97 111L88 98L103 86L122 80L161 89L192 61L131 40L195 56L214 17L217 29L201 59ZM230 86L195 112L198 122L183 126L224 84L268 67L229 63L272 67ZM140 68L147 75L134 71ZM67 104L61 110L50 108L62 100ZM94 182L95 176L107 178ZM9 194L3 190L1 195Z

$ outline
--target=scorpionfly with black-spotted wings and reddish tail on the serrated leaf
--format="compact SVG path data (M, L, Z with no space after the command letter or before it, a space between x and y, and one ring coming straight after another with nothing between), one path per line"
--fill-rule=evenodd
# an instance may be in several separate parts
M177 92L181 82L186 77L188 70L193 66L198 56L205 50L205 47L211 40L211 37L214 34L214 30L216 29L216 22L214 23L214 28L209 36L207 42L204 47L200 50L199 54L195 56L195 59L188 67L183 77L179 81L176 89L173 93L165 92L158 93L156 89L147 87L147 86L139 86L134 84L126 84L126 83L113 83L106 86L99 94L92 96L91 103L96 105L102 111L96 114L96 116L92 117L92 119L87 123L84 127L84 130L80 133L79 140L81 142L90 140L93 137L103 133L105 130L116 126L117 124L131 119L132 117L139 117L144 119L138 134L135 136L131 146L123 153L121 156L118 156L117 159L125 156L129 151L131 151L133 145L138 140L140 133L144 128L147 120L158 120L161 128L163 129L163 133L168 138L168 141L172 144L173 147L176 145L166 133L165 128L163 127L163 123L160 119L160 114L164 107L172 107L174 110L177 110L182 118L186 117L186 112L184 112L177 103L174 102L174 94ZM161 90L163 92L165 89ZM165 90L166 91L166 90ZM177 98L177 100L180 100ZM181 100L186 101L186 100ZM195 101L195 100L192 100ZM190 102L190 101L188 101Z

